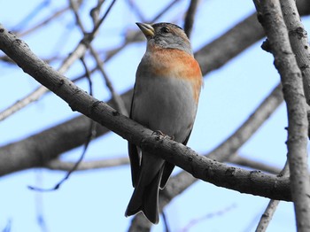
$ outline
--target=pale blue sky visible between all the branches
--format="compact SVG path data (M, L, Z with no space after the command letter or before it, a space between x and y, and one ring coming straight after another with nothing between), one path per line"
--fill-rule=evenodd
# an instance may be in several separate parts
M31 27L44 19L50 12L66 5L67 1L51 1L42 13L27 20L25 17L42 1L0 1L3 9L0 22L13 29L22 20L23 25ZM82 8L83 20L91 27L89 9L97 1L87 1ZM110 2L110 1L109 1ZM166 1L136 1L146 19L153 18ZM106 9L106 5L104 9ZM180 1L159 21L174 21L182 26L182 12L188 1ZM198 50L205 43L224 33L241 19L254 11L252 1L208 0L200 1L196 23L191 35L193 49ZM117 1L112 13L106 19L94 45L106 50L120 44L126 29L136 29L136 15L128 10L126 1ZM35 34L23 37L37 55L48 58L54 54L65 56L74 50L81 40L77 29L73 31L73 14L67 13ZM307 30L310 19L304 18ZM270 54L260 49L256 43L220 70L209 73L205 79L199 102L198 116L188 145L195 151L205 154L228 137L247 119L249 114L267 96L279 81ZM145 42L129 45L119 55L105 64L112 84L119 93L133 87L136 66L145 50ZM89 66L93 65L91 59ZM51 66L58 68L59 62ZM27 74L14 66L1 64L0 110L13 104L32 92L37 86ZM72 78L82 72L76 62L66 73ZM110 95L98 73L94 74L94 96L109 99ZM88 89L86 81L78 82ZM79 115L72 112L66 103L53 94L47 94L35 104L15 113L0 122L0 145L18 141L57 125L59 122ZM287 126L285 106L267 120L257 134L245 143L240 154L267 164L282 167L286 159ZM76 160L82 149L77 148L62 155L62 159ZM127 142L120 136L109 134L93 141L86 159L116 158L127 155ZM176 169L175 172L178 172ZM0 179L0 229L11 221L12 232L42 231L37 223L37 214L43 211L48 231L124 231L132 218L125 218L124 212L132 194L129 166L76 172L57 191L37 193L27 189L27 185L49 188L57 183L64 172L46 169L32 169L4 176ZM210 183L196 182L181 196L176 197L165 209L172 231L183 231L191 220L207 216L189 231L254 231L260 214L268 200L263 197L240 194L239 192L218 188ZM251 205L251 206L250 206ZM232 230L233 227L233 230ZM162 231L163 224L152 231ZM291 203L281 203L275 213L268 231L293 231L295 220Z

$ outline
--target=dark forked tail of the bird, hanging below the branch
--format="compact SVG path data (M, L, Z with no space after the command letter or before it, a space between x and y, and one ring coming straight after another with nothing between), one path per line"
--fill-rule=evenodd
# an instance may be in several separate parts
M159 184L163 169L164 166L161 166L159 172L148 185L143 186L143 182L138 182L130 198L125 216L134 215L142 211L151 223L159 223Z

